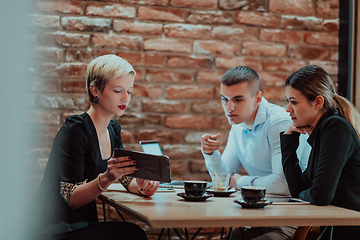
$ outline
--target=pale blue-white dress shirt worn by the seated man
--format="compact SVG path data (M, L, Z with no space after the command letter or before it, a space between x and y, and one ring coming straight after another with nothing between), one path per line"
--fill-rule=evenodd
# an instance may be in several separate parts
M217 150L208 155L203 152L209 172L239 173L242 167L248 175L236 182L240 189L243 186L261 186L267 193L289 195L283 173L280 149L280 132L291 124L289 114L283 107L269 103L262 98L253 125L248 129L244 123L233 125L229 132L226 148L221 156ZM306 167L310 145L306 137L300 138L298 156Z

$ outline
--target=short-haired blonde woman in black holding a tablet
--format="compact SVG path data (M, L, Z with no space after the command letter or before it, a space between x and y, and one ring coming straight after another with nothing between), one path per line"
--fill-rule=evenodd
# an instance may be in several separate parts
M137 170L129 157L112 158L123 148L120 125L112 120L128 107L135 77L121 57L105 55L87 68L90 109L66 119L56 135L36 195L37 233L55 239L147 239L135 224L98 222L95 199L120 181L132 193L151 196L159 182L127 177Z

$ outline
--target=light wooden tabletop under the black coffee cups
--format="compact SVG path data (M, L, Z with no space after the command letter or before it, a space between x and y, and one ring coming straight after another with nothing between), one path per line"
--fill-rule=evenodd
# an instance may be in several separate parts
M230 197L187 202L177 192L157 192L141 197L123 191L103 192L99 199L153 228L341 226L359 225L360 212L335 206L276 203L264 209L243 209Z

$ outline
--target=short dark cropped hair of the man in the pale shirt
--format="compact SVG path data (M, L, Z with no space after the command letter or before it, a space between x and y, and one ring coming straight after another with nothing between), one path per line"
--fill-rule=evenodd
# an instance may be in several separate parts
M243 82L247 82L251 86L252 96L261 91L259 75L255 70L246 66L230 68L221 78L221 83L228 87Z

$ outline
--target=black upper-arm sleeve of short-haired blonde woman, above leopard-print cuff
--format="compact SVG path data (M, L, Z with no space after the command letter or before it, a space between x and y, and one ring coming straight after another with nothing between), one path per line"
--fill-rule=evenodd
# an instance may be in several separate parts
M60 181L81 182L84 179L85 152L88 129L79 117L68 119L60 129L57 140L57 158Z

